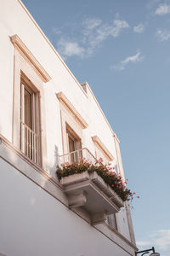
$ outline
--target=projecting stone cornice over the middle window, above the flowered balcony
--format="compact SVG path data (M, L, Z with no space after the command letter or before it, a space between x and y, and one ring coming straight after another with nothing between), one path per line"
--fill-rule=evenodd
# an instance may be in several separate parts
M56 94L57 98L60 103L63 103L66 108L68 108L77 122L82 126L82 129L86 129L88 127L88 123L82 118L81 114L77 112L77 109L74 108L74 106L71 104L71 102L67 99L65 94L60 91L59 93Z

